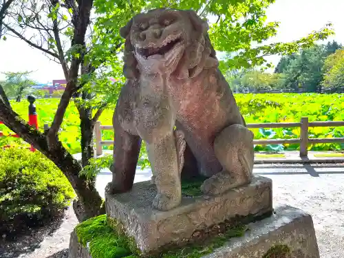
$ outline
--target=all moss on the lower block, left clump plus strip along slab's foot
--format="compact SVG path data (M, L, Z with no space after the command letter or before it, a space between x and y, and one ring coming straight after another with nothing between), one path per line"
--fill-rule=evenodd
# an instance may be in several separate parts
M202 244L189 244L182 248L171 248L159 255L147 258L200 258L210 254L215 248L226 244L228 239L241 237L247 227L243 224L229 226L224 233L212 237ZM76 226L76 235L82 246L89 246L92 258L140 258L140 250L133 237L124 235L122 226L116 219L100 215Z

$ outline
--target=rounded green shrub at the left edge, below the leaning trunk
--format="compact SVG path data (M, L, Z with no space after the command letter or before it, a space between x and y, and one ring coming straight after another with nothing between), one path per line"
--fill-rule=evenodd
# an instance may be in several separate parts
M39 151L0 150L0 235L61 215L72 198L65 175Z

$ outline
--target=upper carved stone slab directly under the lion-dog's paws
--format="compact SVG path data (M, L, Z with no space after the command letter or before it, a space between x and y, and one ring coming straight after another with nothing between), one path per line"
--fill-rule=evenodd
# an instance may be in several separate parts
M217 196L182 197L171 211L151 207L155 186L133 185L129 193L105 195L107 215L117 219L143 252L190 239L193 233L236 216L257 217L272 211L272 180L254 176L252 182Z

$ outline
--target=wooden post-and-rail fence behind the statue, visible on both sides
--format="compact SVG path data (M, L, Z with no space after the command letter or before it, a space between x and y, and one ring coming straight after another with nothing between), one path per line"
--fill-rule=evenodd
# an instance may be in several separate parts
M308 117L301 118L300 122L266 122L258 124L248 124L248 128L292 128L300 127L300 138L291 139L268 139L268 140L253 140L255 145L265 144L300 144L300 157L305 158L308 156L308 144L316 143L332 143L344 142L344 138L308 138L308 129L310 127L342 127L344 121L321 121L321 122L308 122ZM102 130L113 130L111 125L100 125L96 122L94 129L95 142L96 142L96 155L103 154L103 145L114 144L112 140L102 140Z

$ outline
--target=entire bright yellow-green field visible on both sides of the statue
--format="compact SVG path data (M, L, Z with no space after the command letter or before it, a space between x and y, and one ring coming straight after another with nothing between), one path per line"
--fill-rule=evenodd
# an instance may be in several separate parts
M299 122L301 117L308 116L309 121L344 120L344 94L235 94L235 99L247 123L257 122ZM23 119L28 119L28 102L12 102L14 111ZM39 127L52 122L58 99L38 99L36 108L39 114ZM103 125L111 125L113 110L106 110L100 117ZM80 152L80 120L73 103L69 105L62 125L60 140L72 153ZM4 125L0 125L3 133L9 133ZM261 138L299 138L299 128L284 129L252 129L255 139ZM310 128L310 138L344 137L344 127ZM103 140L113 140L113 131L103 131ZM10 138L0 138L0 146L14 144ZM18 144L21 144L18 142ZM106 148L106 147L104 147ZM111 147L109 147L111 148ZM276 144L255 146L256 151L297 150L299 144ZM314 144L309 147L313 151L343 150L344 144Z

